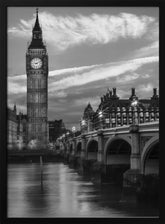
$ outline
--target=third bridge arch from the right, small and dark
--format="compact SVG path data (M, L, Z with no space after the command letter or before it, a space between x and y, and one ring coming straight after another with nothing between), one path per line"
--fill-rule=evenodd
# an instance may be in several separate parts
M87 160L97 160L98 141L90 139L86 146Z

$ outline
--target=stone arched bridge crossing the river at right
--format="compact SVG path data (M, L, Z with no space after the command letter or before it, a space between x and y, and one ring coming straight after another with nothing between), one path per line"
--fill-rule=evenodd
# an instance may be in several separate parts
M135 186L142 176L159 175L159 121L66 136L59 145L80 172L94 167L93 180L99 183L119 178L124 186Z

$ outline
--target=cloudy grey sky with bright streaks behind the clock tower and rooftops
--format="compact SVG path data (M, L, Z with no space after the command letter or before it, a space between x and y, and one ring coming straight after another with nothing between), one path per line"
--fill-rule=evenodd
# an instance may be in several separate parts
M157 7L40 7L49 55L48 117L79 127L91 103L96 110L107 89L128 98L150 98L159 86ZM35 22L34 7L8 8L8 105L26 113L25 54Z

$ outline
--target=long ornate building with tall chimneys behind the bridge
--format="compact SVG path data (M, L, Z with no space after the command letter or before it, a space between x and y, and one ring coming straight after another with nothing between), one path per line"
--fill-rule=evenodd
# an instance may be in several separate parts
M101 97L96 112L90 104L87 105L81 120L81 131L157 120L159 120L159 96L156 88L153 89L153 96L150 99L138 99L135 88L132 88L129 99L120 99L116 94L116 88L113 88L113 91L108 90Z

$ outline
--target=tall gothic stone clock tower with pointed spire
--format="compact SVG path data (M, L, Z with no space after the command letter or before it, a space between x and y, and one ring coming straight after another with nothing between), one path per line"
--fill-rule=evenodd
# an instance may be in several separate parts
M38 9L32 40L26 52L28 142L36 140L42 148L48 141L48 55L42 39Z

